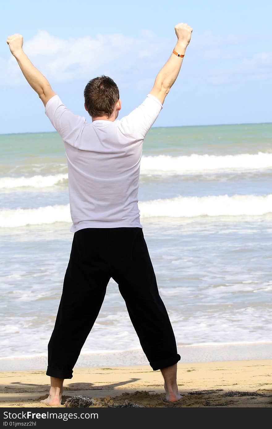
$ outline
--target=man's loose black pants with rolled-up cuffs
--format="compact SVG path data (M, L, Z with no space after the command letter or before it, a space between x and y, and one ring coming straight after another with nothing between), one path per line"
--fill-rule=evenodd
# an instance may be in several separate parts
M110 278L116 281L154 371L180 360L140 227L85 228L74 233L46 375L72 378Z

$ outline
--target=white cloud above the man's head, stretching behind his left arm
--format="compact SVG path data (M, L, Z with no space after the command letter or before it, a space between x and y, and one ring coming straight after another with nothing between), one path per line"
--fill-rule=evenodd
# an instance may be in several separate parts
M138 38L121 33L107 36L99 33L95 38L85 36L68 40L40 30L31 40L24 42L24 51L47 79L67 82L89 79L104 66L112 72L125 70L135 74L140 63L142 67L156 64L158 58L163 57L162 50L165 50L166 43L165 39L158 40L149 30L142 30ZM2 70L6 70L6 76L1 76L6 84L18 84L23 79L13 57Z

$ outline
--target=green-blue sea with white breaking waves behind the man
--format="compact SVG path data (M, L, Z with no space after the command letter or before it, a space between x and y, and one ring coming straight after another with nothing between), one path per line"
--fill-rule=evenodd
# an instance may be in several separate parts
M43 368L73 240L64 144L56 132L6 134L0 151L0 367ZM147 133L140 221L181 362L271 357L271 184L272 124ZM138 364L148 361L110 279L77 365Z

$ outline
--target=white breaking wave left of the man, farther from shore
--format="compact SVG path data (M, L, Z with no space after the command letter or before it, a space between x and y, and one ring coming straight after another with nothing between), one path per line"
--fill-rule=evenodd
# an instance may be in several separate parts
M55 174L47 176L36 175L31 177L1 177L0 189L14 189L18 187L51 187L56 184L61 184L61 182L67 179L68 174Z

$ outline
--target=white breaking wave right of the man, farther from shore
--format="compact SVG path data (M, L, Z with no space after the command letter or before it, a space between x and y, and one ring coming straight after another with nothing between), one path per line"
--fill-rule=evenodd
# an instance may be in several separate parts
M272 168L272 154L199 155L173 157L170 155L143 156L141 173L165 172L174 174L202 173L226 170L256 170Z

